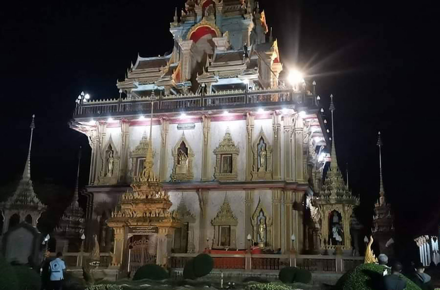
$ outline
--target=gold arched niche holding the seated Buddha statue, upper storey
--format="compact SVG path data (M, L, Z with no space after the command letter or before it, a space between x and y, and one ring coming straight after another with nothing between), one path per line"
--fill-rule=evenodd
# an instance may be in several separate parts
M172 157L174 165L171 172L172 181L186 181L194 179L193 161L194 152L191 149L185 134L177 141L172 149Z

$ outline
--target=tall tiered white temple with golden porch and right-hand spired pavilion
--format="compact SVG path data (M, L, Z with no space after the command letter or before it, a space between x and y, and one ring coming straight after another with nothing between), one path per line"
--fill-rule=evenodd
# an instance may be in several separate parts
M253 242L268 253L351 250L359 200L334 138L321 187L330 139L316 83L280 79L264 11L252 0L188 0L170 26L172 52L138 56L119 98L78 96L70 126L92 148L87 240L100 233L129 272Z

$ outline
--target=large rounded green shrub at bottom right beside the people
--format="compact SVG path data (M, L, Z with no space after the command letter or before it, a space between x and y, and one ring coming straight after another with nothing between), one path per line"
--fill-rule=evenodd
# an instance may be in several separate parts
M348 271L337 280L335 289L338 290L377 290L381 289L385 266L362 264ZM421 290L410 279L400 274L407 282L405 290Z

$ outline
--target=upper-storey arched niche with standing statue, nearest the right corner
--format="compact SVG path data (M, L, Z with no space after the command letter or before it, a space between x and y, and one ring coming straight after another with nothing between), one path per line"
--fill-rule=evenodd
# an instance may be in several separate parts
M253 167L251 171L252 180L271 180L272 179L272 146L269 139L260 129L260 133L253 142Z

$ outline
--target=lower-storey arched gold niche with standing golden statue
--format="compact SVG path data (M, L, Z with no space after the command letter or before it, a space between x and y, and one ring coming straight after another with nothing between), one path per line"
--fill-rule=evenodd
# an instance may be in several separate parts
M253 241L260 247L271 246L272 244L272 218L268 216L267 211L261 204L261 197L258 198L258 204L252 214ZM262 237L263 234L263 237Z

